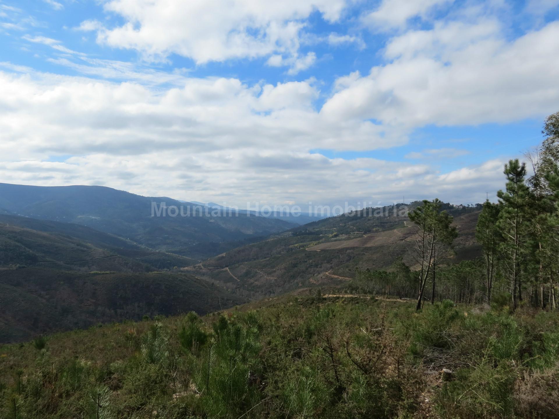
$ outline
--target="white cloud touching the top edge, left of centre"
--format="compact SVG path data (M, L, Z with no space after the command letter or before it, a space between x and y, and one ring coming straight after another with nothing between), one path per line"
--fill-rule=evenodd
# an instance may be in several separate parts
M178 54L204 64L280 54L291 57L295 69L309 59L297 58L306 18L319 11L326 21L337 21L346 1L231 0L225 6L221 0L110 0L105 11L121 16L122 26L89 20L80 29L96 30L101 44L135 49L149 60Z

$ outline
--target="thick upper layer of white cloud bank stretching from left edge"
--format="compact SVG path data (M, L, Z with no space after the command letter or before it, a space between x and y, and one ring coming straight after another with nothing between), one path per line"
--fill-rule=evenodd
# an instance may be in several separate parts
M375 149L406 139L368 121L334 122L314 108L311 82L245 85L184 78L165 91L134 83L0 73L3 153L143 153L159 149L274 146ZM79 138L80 141L75 139ZM350 141L347 141L350 139ZM35 142L36 140L36 142ZM24 141L25 146L16 146ZM12 151L8 151L12 150ZM4 154L7 155L7 154Z

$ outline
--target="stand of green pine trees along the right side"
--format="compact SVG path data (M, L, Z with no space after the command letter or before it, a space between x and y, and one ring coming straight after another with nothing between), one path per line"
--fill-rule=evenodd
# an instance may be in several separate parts
M487 200L476 226L482 258L448 262L456 228L452 216L440 211L438 199L424 201L409 213L416 225L412 271L401 260L389 270L359 270L349 289L471 304L498 302L519 307L557 308L559 275L559 112L543 126L542 144L525 153L527 163L510 160L504 167L506 183L498 202ZM439 266L439 264L441 264ZM425 289L427 285L430 289Z

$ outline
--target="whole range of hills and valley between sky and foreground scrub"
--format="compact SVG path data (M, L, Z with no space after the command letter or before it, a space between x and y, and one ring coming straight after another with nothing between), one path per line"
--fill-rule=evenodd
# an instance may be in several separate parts
M204 211L153 217L153 202ZM401 209L419 204L300 225L105 187L0 184L0 342L337 286L399 259L413 266L414 228ZM479 208L444 209L459 236L443 263L479 256Z

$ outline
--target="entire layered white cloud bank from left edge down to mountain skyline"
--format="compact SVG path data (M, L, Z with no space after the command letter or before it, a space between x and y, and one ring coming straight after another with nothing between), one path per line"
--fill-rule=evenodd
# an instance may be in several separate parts
M413 191L423 198L442 179L426 165L313 153L401 145L406 136L368 121L324 118L311 82L190 78L162 93L134 83L0 73L0 87L0 155L10 158L0 163L4 182L104 184L243 206L334 203L339 191L349 201L389 202ZM63 161L49 161L57 156ZM448 182L463 183L459 176Z

